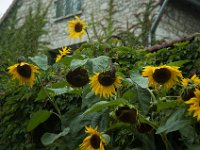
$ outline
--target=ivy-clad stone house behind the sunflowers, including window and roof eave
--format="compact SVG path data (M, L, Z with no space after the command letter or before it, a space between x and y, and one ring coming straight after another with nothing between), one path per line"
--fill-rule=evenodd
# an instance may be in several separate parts
M39 1L42 7L46 7L50 3L49 0ZM95 21L99 21L98 23L103 24L103 18L108 15L108 10L110 9L109 2L111 1L113 2L111 8L115 11L113 18L117 21L115 26L125 30L127 25L132 26L137 24L138 16L144 14L144 6L147 6L145 4L148 4L148 2L152 2L152 6L155 7L155 9L150 12L147 18L149 19L154 16L155 20L165 0L52 0L47 14L48 22L45 26L48 34L42 36L41 40L50 42L49 47L52 50L87 41L87 35L85 35L82 40L67 38L68 33L66 32L66 26L68 21L74 19L74 16L77 15L81 19L85 19L87 23L91 23L93 17ZM14 0L1 18L0 25L12 13L12 8L14 6L17 6L17 17L23 22L23 19L28 14L29 7L32 7L34 10L37 3L38 0ZM156 37L158 39L174 39L200 32L199 13L199 0L169 0L156 29ZM144 21L144 24L145 23L148 24ZM102 32L99 29L97 29L97 31L99 32L98 34ZM88 28L88 32L89 35L94 35L94 31L91 27Z

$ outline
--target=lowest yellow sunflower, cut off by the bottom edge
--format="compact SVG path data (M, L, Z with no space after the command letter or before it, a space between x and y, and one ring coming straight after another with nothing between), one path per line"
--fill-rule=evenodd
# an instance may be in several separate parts
M103 132L99 133L97 127L95 129L92 127L85 128L85 132L90 135L83 140L82 144L80 144L81 150L105 150L106 141L102 136Z

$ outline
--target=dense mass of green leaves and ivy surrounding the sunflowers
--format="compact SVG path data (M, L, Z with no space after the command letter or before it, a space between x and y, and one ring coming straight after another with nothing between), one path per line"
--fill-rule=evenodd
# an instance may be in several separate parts
M134 47L131 41L124 46L121 41L127 38L123 36L121 40L89 41L49 65L47 55L37 54L41 48L47 49L46 43L38 40L46 33L47 10L40 12L38 7L36 14L31 12L22 26L14 26L14 16L9 26L0 30L4 35L0 38L0 149L79 149L88 125L104 132L108 150L200 148L200 124L187 113L181 84L159 91L150 89L141 76L143 67L164 64L179 66L184 77L200 75L199 35L154 53L143 45ZM13 57L21 53L40 68L32 88L19 86L7 73L7 67L17 62ZM95 95L90 84L75 88L66 81L69 70L81 67L92 76L113 66L122 86L110 98ZM131 123L117 116L120 107L136 112Z

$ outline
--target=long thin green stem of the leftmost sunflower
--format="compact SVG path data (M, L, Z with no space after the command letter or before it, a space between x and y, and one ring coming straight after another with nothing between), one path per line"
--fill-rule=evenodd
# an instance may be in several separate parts
M55 112L52 112L52 113L54 113L56 116L58 116L58 118L60 118L60 120L61 120L61 112L60 112L60 109L58 108L58 105L57 105L57 103L55 103L53 100L52 100L52 98L49 96L49 94L48 94L48 92L46 91L46 89L45 89L45 87L44 87L44 85L42 84L42 81L40 80L40 78L37 76L37 79L38 79L38 81L39 81L39 83L41 84L41 87L42 87L42 89L44 90L44 93L46 94L46 96L48 97L48 99L49 99L49 102L53 105L53 107L56 109L56 111L58 112L58 113L55 113Z

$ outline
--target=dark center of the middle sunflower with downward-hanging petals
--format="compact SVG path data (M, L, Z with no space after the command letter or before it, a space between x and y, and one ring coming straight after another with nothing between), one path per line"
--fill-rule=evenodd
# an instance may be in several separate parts
M98 76L98 81L103 86L110 86L115 82L115 75L111 72L102 72Z

